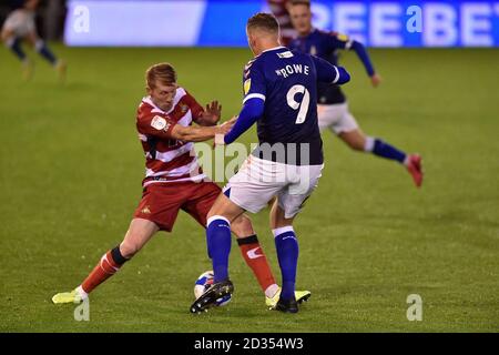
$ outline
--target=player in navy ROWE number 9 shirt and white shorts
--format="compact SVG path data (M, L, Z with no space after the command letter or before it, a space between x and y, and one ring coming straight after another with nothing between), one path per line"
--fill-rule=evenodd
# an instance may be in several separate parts
M298 241L293 221L317 186L324 166L317 82L343 84L350 79L340 67L282 47L279 26L272 14L252 17L246 33L255 58L244 68L243 109L233 129L216 136L215 144L231 144L256 122L258 146L208 212L206 237L214 284L193 303L192 313L207 310L233 292L228 278L231 222L245 211L257 213L274 196L271 227L283 283L275 310L298 312Z

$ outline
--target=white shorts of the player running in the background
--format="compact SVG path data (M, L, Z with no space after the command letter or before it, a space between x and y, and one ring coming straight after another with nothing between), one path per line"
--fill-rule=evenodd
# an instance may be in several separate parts
M348 111L348 103L317 104L318 124L320 131L329 129L336 134L352 132L358 129L357 121Z

